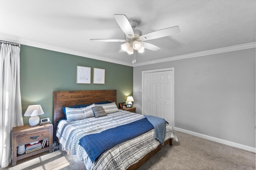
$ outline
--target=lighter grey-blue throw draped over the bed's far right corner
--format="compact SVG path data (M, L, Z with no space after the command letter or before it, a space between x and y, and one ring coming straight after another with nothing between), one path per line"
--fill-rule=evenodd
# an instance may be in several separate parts
M148 121L154 126L155 129L155 139L158 140L161 145L164 145L165 137L165 120L160 117L155 117L152 115L144 115Z

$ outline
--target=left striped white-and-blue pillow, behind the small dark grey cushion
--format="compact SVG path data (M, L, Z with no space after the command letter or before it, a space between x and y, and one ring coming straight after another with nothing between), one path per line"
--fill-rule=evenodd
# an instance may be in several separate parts
M66 116L68 121L74 121L74 120L81 120L86 119L88 117L94 117L94 113L92 111L92 107L95 105L92 104L87 107L80 107L80 108L71 108L66 107Z

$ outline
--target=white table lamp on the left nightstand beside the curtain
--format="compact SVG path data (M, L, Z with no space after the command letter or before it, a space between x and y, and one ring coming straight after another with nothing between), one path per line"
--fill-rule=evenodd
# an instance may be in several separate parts
M41 105L30 105L28 106L24 116L31 116L28 120L30 126L36 126L38 125L40 118L38 115L44 114L44 111L41 107Z

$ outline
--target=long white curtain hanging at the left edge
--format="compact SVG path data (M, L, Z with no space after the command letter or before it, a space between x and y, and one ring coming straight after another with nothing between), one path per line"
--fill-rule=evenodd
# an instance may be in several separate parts
M0 165L12 159L12 127L23 125L20 97L20 47L0 44Z

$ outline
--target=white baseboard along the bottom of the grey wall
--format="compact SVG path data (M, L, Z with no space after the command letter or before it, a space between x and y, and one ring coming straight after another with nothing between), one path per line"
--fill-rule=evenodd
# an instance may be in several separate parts
M180 131L180 132L183 132L183 133L194 135L196 137L201 137L201 138L204 138L204 139L208 139L210 141L222 143L222 144L225 144L225 145L228 145L228 146L231 146L231 147L236 147L236 148L239 148L239 149L248 150L248 151L254 152L254 153L256 152L256 148L254 148L254 147L249 147L249 146L246 146L246 145L241 145L239 143L234 143L234 142L226 141L226 140L223 140L223 139L218 139L216 137L211 137L211 136L208 136L208 135L203 135L203 134L200 134L200 133L188 131L188 130L181 129L181 128L178 128L178 127L174 127L173 129L175 131Z

